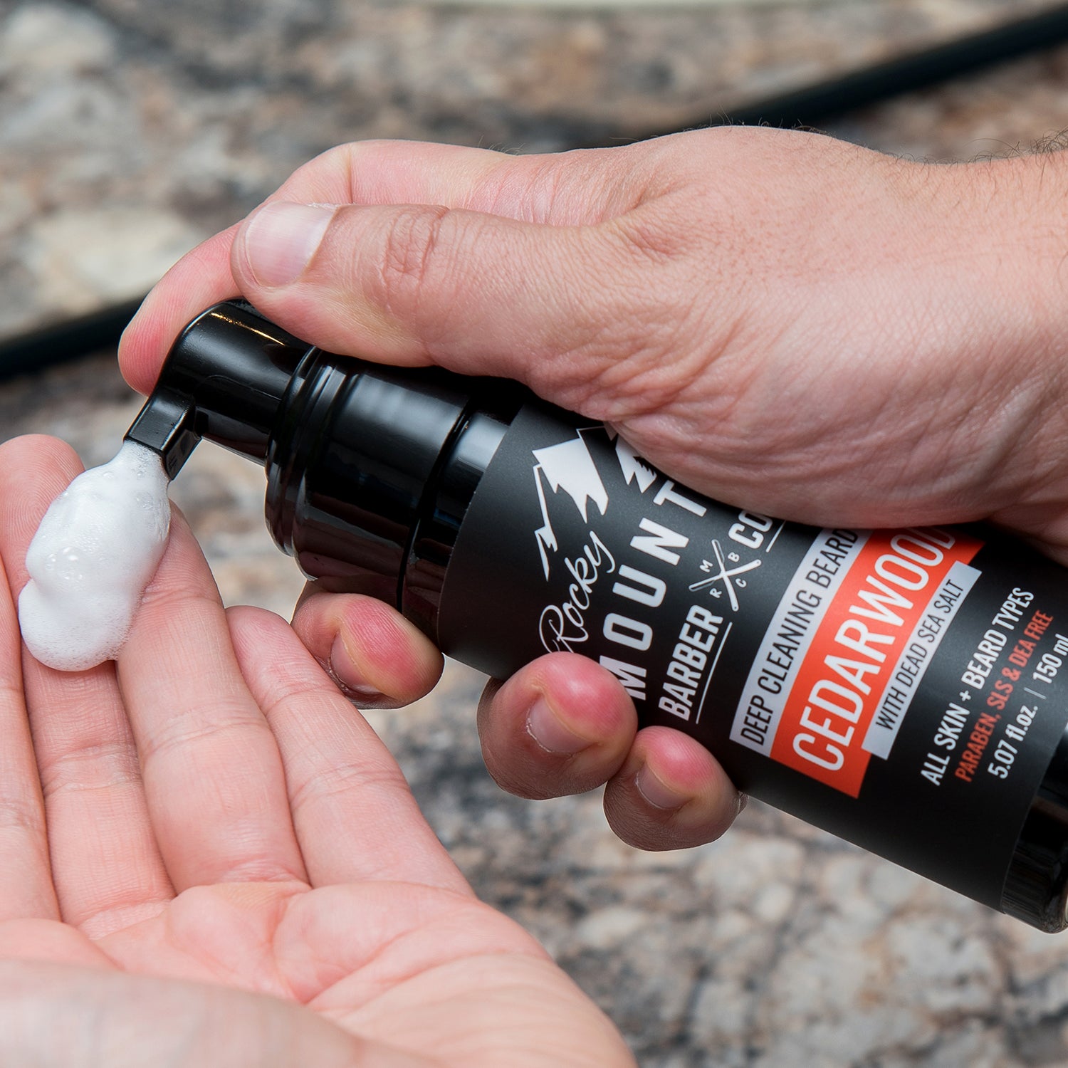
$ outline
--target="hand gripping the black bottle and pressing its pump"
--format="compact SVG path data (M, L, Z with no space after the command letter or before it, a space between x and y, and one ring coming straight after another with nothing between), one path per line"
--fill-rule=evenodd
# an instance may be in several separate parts
M1068 561L1064 169L745 128L560 156L348 145L179 263L121 359L146 391L180 326L240 290L328 350L520 379L739 506L990 517ZM361 611L315 598L295 626L324 658ZM694 743L635 736L594 665L539 661L480 722L503 786L607 780L633 844L705 841L736 811Z

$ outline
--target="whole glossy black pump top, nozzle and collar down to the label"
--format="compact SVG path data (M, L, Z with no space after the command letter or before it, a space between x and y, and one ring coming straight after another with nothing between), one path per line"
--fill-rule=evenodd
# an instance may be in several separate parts
M268 525L303 571L433 637L460 521L525 396L323 352L226 301L183 331L126 437L171 477L202 438L263 464Z

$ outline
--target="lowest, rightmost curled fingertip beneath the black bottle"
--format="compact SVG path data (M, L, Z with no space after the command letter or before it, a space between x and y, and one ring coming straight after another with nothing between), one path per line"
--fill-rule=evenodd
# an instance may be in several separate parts
M604 815L638 849L688 849L718 838L744 797L703 745L671 727L646 727L604 787Z

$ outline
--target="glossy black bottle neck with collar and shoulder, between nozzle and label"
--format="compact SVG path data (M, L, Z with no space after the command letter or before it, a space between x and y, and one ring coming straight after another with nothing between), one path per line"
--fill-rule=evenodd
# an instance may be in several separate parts
M325 590L384 600L436 635L452 546L522 391L314 350L267 450L267 522Z

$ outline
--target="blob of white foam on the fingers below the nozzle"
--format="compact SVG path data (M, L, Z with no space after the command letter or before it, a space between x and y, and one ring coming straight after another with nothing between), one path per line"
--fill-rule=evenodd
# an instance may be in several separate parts
M18 598L22 640L43 664L84 671L119 655L167 547L167 487L159 456L124 441L52 501Z

